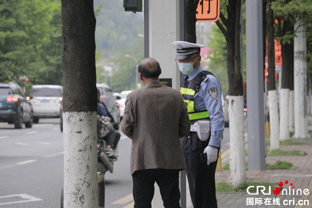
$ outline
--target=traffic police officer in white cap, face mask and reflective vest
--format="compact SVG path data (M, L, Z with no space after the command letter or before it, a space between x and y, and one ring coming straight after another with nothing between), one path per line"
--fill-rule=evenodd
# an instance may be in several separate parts
M180 91L192 124L182 142L192 203L194 208L215 208L215 172L224 129L221 85L200 65L203 45L185 41L172 45L177 48L176 61L185 75ZM207 163L203 163L203 153L207 153Z

